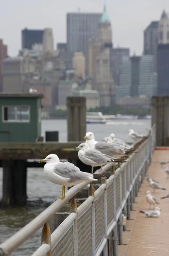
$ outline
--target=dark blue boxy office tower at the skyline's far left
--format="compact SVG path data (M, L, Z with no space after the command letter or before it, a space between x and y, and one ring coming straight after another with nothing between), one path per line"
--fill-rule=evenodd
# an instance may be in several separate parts
M23 29L22 32L22 49L32 49L32 46L42 44L43 29Z

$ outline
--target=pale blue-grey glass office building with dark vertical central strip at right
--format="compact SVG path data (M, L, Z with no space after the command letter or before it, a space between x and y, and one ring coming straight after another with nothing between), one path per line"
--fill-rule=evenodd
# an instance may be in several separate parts
M154 72L153 55L124 56L116 100L141 95L151 98L156 92L157 73Z

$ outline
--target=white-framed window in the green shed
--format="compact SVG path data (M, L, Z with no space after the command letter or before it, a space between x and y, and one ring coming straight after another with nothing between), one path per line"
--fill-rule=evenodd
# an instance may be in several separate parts
M30 122L30 106L3 106L3 122Z

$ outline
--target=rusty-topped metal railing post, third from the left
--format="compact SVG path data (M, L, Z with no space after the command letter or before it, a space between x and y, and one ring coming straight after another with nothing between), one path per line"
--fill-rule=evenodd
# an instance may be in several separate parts
M95 200L94 200L94 187L90 183L89 196L93 196L93 202L91 206L91 222L92 222L92 256L96 254L96 236L95 236Z

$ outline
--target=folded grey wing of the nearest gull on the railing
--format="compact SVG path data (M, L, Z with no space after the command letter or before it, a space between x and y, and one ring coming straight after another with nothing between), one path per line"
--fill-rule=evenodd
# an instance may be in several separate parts
M69 182L88 179L87 173L81 172L77 166L69 162L57 163L54 172L59 176L69 178Z

